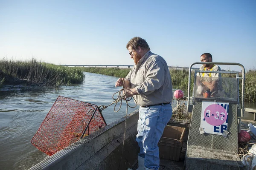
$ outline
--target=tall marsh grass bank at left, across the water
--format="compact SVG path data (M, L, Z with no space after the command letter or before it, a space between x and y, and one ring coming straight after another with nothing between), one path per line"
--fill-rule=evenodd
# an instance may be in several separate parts
M81 69L62 67L36 59L29 61L0 60L0 87L3 85L59 86L81 84Z

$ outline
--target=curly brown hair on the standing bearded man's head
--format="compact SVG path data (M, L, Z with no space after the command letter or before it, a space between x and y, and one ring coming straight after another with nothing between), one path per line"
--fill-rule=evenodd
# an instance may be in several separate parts
M150 50L148 43L146 40L140 38L140 37L133 37L126 45L126 48L128 49L131 46L132 50L137 50L139 47L143 50Z

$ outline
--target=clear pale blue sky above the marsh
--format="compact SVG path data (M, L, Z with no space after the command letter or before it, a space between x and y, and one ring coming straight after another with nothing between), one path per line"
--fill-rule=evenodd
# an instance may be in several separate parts
M126 44L139 36L170 66L209 52L256 69L255 9L256 0L0 0L0 59L134 65Z

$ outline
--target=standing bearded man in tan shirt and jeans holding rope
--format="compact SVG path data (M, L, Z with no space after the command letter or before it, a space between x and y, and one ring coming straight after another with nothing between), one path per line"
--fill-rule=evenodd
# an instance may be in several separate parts
M125 78L116 81L116 87L123 85L125 99L134 96L140 105L136 136L140 146L138 170L158 170L157 144L172 117L172 79L166 61L152 53L144 39L134 37L126 48L135 65Z

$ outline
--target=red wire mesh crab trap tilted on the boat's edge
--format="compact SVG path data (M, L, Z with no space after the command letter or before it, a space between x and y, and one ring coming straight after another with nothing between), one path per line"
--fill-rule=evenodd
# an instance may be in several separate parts
M97 105L58 96L31 143L51 156L106 125Z

